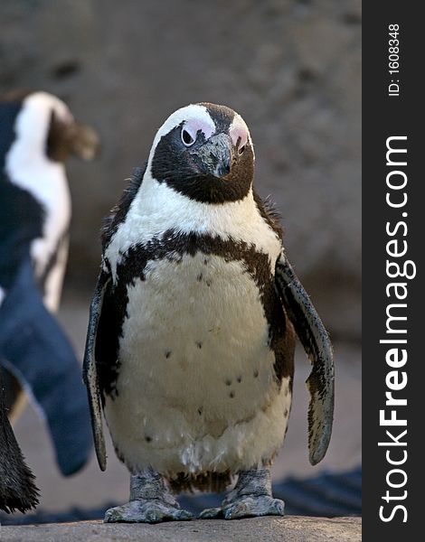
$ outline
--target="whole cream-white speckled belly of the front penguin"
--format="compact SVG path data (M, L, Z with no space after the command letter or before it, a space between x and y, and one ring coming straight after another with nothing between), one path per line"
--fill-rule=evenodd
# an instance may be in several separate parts
M131 471L237 472L283 443L291 393L276 381L260 290L241 261L151 260L127 285L117 396L105 416Z

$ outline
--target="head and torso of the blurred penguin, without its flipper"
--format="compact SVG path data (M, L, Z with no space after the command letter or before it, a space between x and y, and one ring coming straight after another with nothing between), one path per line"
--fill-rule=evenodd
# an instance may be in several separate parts
M9 109L10 120L14 116L12 126L9 124L12 130L5 137L8 141L1 149L4 179L0 188L4 205L0 240L12 265L10 276L0 276L0 285L5 288L14 280L14 267L29 251L44 303L56 312L71 220L64 160L72 153L93 157L97 137L88 126L76 123L59 98L45 92L29 94L20 102L3 102L0 107ZM87 140L84 150L84 145L79 150L80 139ZM5 248L3 242L7 243Z

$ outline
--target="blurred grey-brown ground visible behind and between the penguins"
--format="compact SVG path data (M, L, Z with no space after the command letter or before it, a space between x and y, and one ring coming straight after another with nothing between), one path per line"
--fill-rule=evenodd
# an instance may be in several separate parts
M90 293L66 292L60 320L71 336L81 359L88 322ZM307 458L308 394L304 384L309 364L297 348L294 403L284 448L274 467L275 480L295 474L314 476L323 470L344 471L361 462L361 351L348 343L335 344L335 424L326 458L312 467ZM15 435L41 489L40 509L66 510L101 507L107 502L125 502L128 498L128 474L118 462L109 440L108 468L100 472L94 456L78 474L64 478L54 462L52 445L40 417L32 406L14 425ZM109 435L108 435L109 436Z

